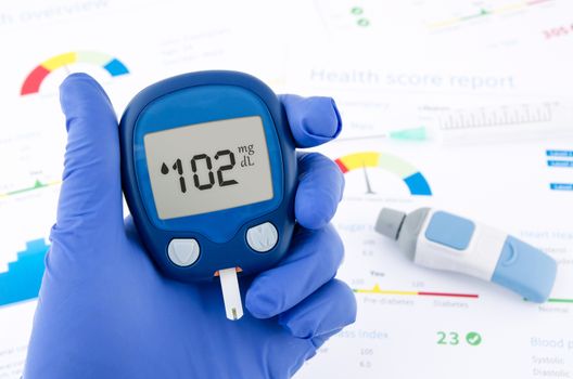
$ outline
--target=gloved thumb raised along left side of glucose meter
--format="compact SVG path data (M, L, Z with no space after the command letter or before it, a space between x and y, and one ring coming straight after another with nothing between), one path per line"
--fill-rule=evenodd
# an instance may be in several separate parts
M67 145L58 220L52 240L74 240L74 250L92 250L106 231L122 224L117 120L103 89L86 74L60 87Z

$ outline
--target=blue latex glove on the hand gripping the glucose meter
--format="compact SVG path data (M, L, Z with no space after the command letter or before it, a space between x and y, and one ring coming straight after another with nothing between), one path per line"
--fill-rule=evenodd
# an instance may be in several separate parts
M281 97L300 146L341 128L331 99ZM61 87L68 143L25 379L288 378L356 315L334 279L343 245L329 225L344 186L336 166L300 154L298 221L280 264L241 279L247 312L225 317L218 280L163 277L123 219L117 120L102 88ZM245 291L246 290L246 291Z

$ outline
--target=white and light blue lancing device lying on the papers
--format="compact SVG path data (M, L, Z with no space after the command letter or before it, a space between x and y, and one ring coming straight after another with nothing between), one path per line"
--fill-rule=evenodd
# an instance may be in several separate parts
M553 287L557 262L542 250L491 226L442 210L404 213L384 208L375 231L396 239L416 264L497 283L533 302Z

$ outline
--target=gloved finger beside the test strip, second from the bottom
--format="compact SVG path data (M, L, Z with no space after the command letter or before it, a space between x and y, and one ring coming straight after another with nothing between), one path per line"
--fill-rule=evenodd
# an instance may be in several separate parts
M334 277L343 254L344 246L332 225L318 231L298 228L286 258L253 280L246 309L257 318L290 310Z

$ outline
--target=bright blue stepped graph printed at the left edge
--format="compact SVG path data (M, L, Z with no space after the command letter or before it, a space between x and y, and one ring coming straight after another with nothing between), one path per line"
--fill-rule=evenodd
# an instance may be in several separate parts
M48 249L43 239L31 240L17 253L17 260L8 264L8 272L0 273L0 305L38 297Z

